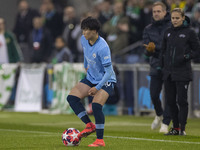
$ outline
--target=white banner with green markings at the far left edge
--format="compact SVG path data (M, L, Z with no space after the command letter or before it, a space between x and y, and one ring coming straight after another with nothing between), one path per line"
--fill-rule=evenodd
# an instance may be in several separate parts
M11 96L17 67L18 64L2 64L0 66L0 110Z

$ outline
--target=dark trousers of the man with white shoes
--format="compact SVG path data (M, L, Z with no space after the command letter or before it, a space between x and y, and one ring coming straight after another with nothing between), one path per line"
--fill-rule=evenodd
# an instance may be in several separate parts
M159 76L151 76L150 95L157 116L163 115L163 123L169 125L171 121L169 106L165 100L164 110L160 100L163 80Z

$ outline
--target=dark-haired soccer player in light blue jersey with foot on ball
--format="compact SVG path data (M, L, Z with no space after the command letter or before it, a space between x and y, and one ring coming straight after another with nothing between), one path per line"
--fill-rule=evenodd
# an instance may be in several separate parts
M83 31L81 44L84 52L84 68L87 75L72 88L67 101L75 114L86 124L86 128L78 135L79 138L87 137L96 131L96 141L88 146L105 146L103 140L105 118L102 106L113 92L116 76L112 67L110 48L98 34L99 21L88 17L81 22L81 29ZM87 96L93 96L92 109L95 125L80 102Z

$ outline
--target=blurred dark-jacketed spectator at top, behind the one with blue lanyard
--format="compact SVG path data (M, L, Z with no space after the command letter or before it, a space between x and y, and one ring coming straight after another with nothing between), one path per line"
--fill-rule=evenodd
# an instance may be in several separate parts
M55 10L52 0L43 0L41 5L40 12L45 17L44 26L49 29L55 40L56 37L62 35L62 14Z

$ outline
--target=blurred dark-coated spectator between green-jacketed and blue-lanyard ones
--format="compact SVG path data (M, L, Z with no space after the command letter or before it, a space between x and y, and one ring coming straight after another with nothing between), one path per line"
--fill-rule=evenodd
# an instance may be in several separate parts
M30 62L28 36L30 31L33 29L32 20L38 15L39 12L30 8L27 0L19 0L18 13L15 18L13 32L16 35L17 41L19 42L25 62Z

